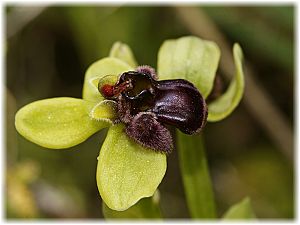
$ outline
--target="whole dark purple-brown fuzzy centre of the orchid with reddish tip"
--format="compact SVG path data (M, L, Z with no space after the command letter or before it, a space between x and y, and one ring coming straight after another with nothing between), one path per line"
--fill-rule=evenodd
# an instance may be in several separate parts
M141 66L119 77L115 85L101 84L99 91L117 102L118 121L139 144L170 153L172 136L165 125L186 134L199 133L206 123L207 106L198 89L183 79L158 81L153 68Z

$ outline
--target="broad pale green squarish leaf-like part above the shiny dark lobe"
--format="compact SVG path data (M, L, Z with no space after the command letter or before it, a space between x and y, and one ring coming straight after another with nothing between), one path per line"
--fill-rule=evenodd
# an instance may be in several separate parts
M219 47L211 41L188 36L167 40L158 53L158 75L162 80L186 79L206 98L213 88L220 59Z

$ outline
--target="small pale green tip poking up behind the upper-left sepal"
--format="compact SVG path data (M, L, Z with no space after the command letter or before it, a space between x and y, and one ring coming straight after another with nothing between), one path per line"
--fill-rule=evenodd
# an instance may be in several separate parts
M118 58L133 68L138 66L130 47L121 42L115 42L109 53L110 57Z

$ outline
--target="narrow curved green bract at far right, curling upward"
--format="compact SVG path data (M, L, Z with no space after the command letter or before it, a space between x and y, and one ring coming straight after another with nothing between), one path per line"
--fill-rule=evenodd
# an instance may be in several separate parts
M240 103L244 93L244 73L242 68L243 52L238 44L233 46L233 57L236 74L226 92L208 105L210 122L219 121L227 117Z

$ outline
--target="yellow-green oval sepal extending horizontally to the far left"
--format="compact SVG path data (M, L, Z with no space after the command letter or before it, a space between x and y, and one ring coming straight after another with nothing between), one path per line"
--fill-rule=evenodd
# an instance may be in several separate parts
M32 102L15 117L18 132L35 144L60 149L77 145L109 126L89 117L92 104L76 98L51 98Z

